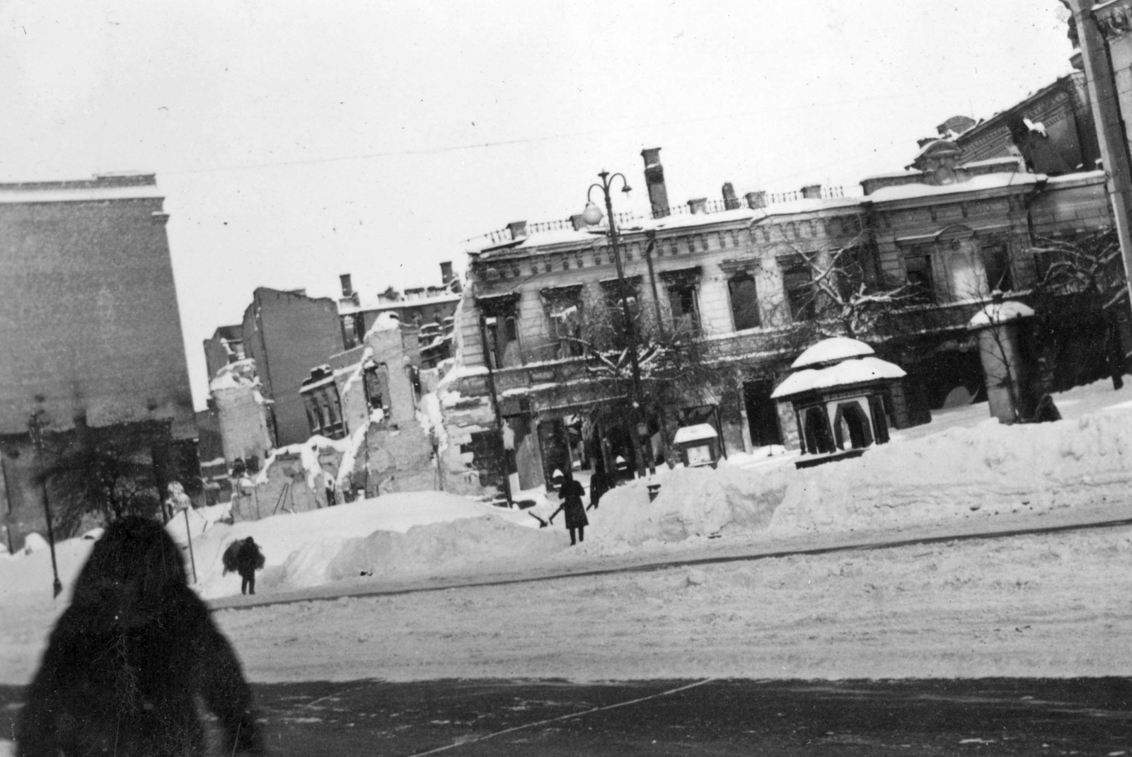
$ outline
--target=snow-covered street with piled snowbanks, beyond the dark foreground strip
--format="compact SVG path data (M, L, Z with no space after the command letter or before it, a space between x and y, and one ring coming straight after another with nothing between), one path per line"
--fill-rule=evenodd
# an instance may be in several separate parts
M429 492L235 526L201 517L197 587L206 597L238 591L218 556L248 534L267 556L266 597L1132 517L1132 403L1107 382L1057 402L1058 423L1002 427L975 405L816 468L762 455L666 471L653 502L643 482L607 494L575 548L560 521L539 528L528 511ZM546 517L552 504L534 509ZM171 530L183 540L183 521ZM91 543L59 545L65 585ZM1132 676L1130 561L1132 528L1108 527L223 609L216 619L263 682ZM45 550L0 561L0 682L28 679L66 599L50 600L49 566Z

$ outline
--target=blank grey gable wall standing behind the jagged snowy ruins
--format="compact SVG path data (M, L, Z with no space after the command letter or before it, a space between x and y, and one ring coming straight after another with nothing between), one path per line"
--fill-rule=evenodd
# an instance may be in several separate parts
M257 289L243 316L243 344L264 396L275 401L278 445L306 440L310 424L299 389L311 368L344 349L334 300Z

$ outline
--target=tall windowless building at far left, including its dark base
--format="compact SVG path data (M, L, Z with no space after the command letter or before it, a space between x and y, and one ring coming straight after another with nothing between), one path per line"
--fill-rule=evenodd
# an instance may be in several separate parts
M168 220L153 174L0 184L0 462L17 547L45 526L33 413L60 438L152 428L158 480L199 490Z

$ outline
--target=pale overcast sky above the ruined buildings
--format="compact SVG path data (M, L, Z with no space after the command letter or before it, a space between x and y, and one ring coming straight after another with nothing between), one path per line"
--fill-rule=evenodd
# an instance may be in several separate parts
M1056 0L0 2L0 180L157 173L195 401L256 286L439 283L461 240L852 184L1069 72Z

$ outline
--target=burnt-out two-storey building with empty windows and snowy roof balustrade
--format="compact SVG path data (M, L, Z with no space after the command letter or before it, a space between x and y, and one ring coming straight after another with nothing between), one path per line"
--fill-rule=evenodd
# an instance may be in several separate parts
M460 365L445 381L449 438L481 481L512 490L538 487L564 465L631 467L633 435L594 412L627 395L593 380L580 349L586 313L611 308L616 319L626 293L666 328L694 329L718 369L715 386L666 416L711 423L724 453L797 447L792 415L771 393L808 346L799 338L839 330L835 318L824 322L818 279L847 256L869 291L899 293L899 319L854 335L908 372L887 395L889 425L926 422L955 389L977 393L983 377L967 321L993 292L1028 291L1036 235L1107 226L1104 174L1032 173L1013 155L963 162L947 139L920 147L908 169L866 179L859 193L812 186L740 201L728 184L721 200L654 201L652 217L618 217L628 292L606 222L518 222L473 240L456 321ZM658 153L643 153L653 199L667 198ZM641 421L659 459L666 422Z

